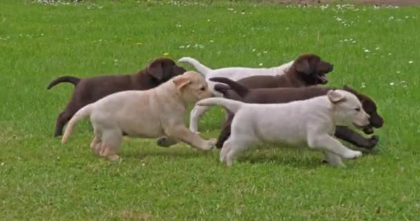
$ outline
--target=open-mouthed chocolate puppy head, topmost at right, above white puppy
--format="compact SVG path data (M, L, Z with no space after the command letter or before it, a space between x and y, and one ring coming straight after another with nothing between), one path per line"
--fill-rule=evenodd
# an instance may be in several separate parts
M325 74L332 71L333 65L330 62L321 60L321 57L314 54L303 54L292 64L300 79L303 79L307 86L316 84L327 84Z

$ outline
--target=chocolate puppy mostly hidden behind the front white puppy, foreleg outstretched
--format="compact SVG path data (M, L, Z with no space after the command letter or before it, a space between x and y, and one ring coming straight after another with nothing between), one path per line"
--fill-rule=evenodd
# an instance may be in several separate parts
M326 95L329 90L332 88L322 87L322 86L309 86L305 88L257 88L249 89L243 86L242 84L227 79L225 77L213 77L212 81L217 81L223 84L216 84L214 87L215 90L222 93L224 97L228 99L240 100L246 103L254 104L279 104L287 103L296 100L309 99L312 97L318 97L321 95ZM228 86L227 86L227 85ZM382 117L376 112L376 104L370 97L358 93L356 90L350 88L349 86L343 86L343 90L347 90L350 93L356 95L357 98L361 101L363 109L367 114L370 115L370 125L363 128L363 131L367 134L373 133L374 128L380 128L383 125ZM230 126L231 120L233 119L233 114L228 113L228 119L224 123L222 132L218 138L216 146L222 148L223 143L227 140L230 135ZM335 136L341 140L345 140L354 144L355 146L361 147L362 151L372 149L376 143L379 141L379 137L373 135L371 138L365 138L359 133L352 131L346 126L336 126Z

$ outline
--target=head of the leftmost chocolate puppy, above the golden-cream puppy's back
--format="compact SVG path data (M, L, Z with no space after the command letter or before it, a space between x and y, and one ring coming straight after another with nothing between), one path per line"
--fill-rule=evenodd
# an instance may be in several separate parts
M147 67L147 73L160 84L168 81L172 77L182 75L186 71L184 68L177 66L175 61L167 57L155 59Z

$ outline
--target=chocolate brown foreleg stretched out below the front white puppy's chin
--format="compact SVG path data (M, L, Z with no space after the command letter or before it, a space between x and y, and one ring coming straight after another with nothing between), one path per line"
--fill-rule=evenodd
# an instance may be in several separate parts
M352 129L347 126L337 126L334 135L341 140L345 140L350 144L353 144L354 146L361 147L361 150L364 150L364 152L372 150L379 140L379 137L376 135L371 138L363 137L359 133L352 131Z

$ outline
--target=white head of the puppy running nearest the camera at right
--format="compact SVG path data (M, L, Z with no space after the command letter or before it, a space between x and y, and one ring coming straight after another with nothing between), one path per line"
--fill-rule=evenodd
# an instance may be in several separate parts
M342 126L363 128L370 124L369 115L363 110L356 95L345 90L330 90L327 97L332 103L334 121Z

